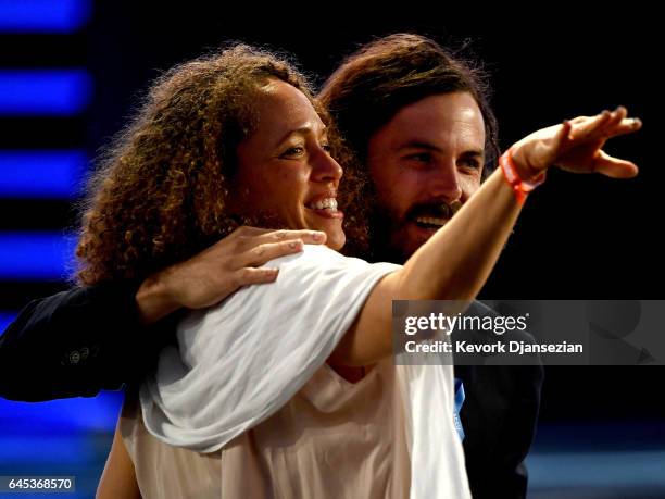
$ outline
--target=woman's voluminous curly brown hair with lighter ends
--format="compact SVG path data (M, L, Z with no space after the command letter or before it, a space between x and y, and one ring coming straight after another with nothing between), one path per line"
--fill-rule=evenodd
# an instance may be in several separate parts
M304 76L246 45L156 80L91 178L76 249L79 283L143 279L255 222L229 215L226 200L236 149L255 130L253 102L268 78L298 88L329 123ZM353 190L352 179L342 184Z

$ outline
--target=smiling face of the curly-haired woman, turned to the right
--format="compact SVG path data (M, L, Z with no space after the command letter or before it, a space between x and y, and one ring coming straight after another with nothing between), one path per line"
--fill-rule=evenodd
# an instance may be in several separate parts
M337 210L342 169L330 158L325 125L308 98L272 79L256 102L256 132L237 150L231 210L276 217L285 228L326 233L327 246L344 244Z

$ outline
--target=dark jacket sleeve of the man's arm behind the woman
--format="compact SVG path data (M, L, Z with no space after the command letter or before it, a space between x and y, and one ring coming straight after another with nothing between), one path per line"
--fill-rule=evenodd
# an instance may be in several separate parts
M139 324L137 289L74 288L28 303L0 337L0 397L95 397L142 377L174 334Z

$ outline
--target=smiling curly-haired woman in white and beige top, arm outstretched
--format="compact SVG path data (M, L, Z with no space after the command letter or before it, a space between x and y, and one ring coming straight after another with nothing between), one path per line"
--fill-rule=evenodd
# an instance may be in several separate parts
M342 172L322 116L297 73L247 47L171 72L99 176L81 280L142 277L238 219L319 229L340 249ZM638 127L619 110L523 139L504 157L511 182L492 174L403 267L310 248L273 262L275 286L188 316L124 410L99 496L468 497L452 367L386 360L391 300L473 299L519 213L519 179L555 161L635 175L599 151ZM353 385L326 359L369 373Z

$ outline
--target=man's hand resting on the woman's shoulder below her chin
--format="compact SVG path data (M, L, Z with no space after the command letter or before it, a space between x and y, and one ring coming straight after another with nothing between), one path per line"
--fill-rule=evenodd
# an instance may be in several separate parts
M218 303L242 286L272 283L276 269L256 269L302 245L321 245L326 234L316 230L269 230L240 227L191 259L148 277L136 301L143 324L180 309L202 309Z

